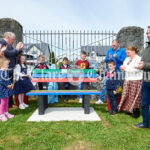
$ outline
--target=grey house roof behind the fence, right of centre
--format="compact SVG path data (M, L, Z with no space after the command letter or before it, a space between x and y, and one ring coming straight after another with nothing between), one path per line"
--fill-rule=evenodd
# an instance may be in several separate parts
M85 51L87 56L90 56L92 51L95 51L97 56L106 56L108 49L111 46L82 46L81 51Z

